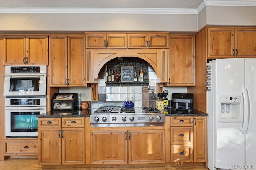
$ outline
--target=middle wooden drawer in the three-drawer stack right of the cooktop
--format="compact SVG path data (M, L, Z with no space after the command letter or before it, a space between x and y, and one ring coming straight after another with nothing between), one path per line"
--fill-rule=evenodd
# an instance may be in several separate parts
M171 127L171 144L193 144L193 127Z

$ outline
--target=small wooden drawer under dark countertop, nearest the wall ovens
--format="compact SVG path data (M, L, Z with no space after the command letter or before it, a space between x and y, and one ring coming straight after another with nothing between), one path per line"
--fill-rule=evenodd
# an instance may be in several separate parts
M60 128L61 118L38 118L38 128Z

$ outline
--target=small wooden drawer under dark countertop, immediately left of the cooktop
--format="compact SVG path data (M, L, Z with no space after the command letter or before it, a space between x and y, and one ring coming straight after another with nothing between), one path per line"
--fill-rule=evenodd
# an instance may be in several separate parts
M84 127L83 117L66 117L62 118L62 127Z

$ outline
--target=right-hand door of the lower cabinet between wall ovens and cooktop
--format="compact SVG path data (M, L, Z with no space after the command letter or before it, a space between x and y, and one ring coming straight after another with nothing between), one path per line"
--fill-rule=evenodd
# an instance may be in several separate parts
M62 164L85 164L84 128L62 128Z

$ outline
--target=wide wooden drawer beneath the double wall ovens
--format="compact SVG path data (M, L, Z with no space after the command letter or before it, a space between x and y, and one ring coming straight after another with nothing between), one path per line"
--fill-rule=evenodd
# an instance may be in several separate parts
M37 142L5 142L5 154L37 155Z

